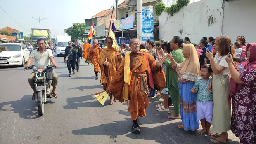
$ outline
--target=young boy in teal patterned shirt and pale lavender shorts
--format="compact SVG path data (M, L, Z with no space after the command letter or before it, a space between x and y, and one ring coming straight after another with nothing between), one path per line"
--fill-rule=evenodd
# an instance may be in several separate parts
M213 96L207 90L207 86L211 81L212 74L211 65L206 64L201 67L201 77L197 79L191 89L192 93L197 93L197 119L201 121L203 129L198 133L203 135L205 132L211 135L211 119L213 116Z

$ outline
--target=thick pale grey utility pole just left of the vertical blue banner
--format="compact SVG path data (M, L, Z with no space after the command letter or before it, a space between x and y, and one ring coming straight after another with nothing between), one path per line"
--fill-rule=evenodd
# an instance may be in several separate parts
M137 0L137 39L142 42L142 0Z

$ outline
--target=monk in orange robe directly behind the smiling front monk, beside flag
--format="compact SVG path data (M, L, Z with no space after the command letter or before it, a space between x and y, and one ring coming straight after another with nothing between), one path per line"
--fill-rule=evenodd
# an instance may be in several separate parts
M109 87L110 82L114 77L114 73L119 68L122 61L122 51L118 47L113 48L113 39L107 37L105 40L107 48L104 48L100 52L100 70L101 70L101 81L103 89L106 90ZM107 57L107 60L106 60ZM109 93L110 105L114 104L113 96Z

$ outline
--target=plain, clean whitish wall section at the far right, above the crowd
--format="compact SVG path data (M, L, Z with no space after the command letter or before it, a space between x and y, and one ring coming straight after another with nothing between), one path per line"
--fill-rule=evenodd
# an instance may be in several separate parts
M247 42L256 42L256 0L225 2L223 35L235 42L242 35Z

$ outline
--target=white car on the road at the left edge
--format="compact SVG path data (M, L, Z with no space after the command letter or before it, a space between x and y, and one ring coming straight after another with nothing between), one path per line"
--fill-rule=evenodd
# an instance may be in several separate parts
M0 44L0 66L24 66L29 59L28 49L20 43Z

